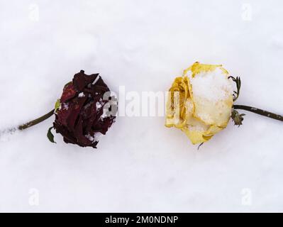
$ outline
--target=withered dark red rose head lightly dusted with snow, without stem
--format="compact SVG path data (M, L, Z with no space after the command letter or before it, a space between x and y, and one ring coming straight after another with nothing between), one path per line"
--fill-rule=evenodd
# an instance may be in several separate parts
M74 75L66 84L53 123L65 143L96 148L99 135L105 135L116 118L113 96L99 74ZM115 107L115 106L114 106Z

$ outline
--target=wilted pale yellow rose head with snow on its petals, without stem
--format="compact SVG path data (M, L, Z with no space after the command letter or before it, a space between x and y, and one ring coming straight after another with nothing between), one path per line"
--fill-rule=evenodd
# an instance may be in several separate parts
M195 62L174 79L167 101L167 127L184 131L193 144L204 143L226 128L233 86L222 65Z

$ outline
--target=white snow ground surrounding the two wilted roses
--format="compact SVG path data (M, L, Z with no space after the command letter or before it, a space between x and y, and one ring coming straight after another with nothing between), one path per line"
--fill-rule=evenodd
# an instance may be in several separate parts
M195 61L283 114L283 1L0 0L0 128L50 111L79 70L118 92L167 91ZM98 149L1 138L0 211L283 211L283 124L241 111L200 150L163 117L119 117Z

